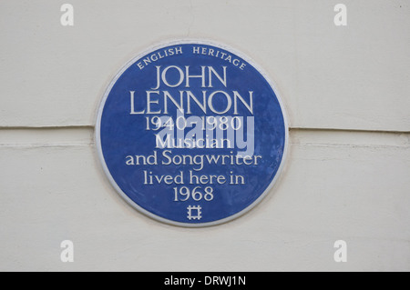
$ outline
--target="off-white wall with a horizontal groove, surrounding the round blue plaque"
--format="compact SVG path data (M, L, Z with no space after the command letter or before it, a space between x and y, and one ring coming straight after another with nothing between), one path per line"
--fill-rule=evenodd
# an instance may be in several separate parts
M0 0L0 270L409 271L410 3L406 0ZM335 26L334 5L347 6ZM205 38L278 85L290 155L230 223L139 214L97 160L97 106L150 45ZM73 263L60 243L74 243ZM333 243L347 243L336 263Z

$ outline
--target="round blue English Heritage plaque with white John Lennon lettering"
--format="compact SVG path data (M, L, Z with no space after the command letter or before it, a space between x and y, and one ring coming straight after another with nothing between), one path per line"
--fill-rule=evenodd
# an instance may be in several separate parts
M160 45L125 65L99 106L97 151L130 205L172 225L217 225L278 178L288 127L272 83L225 45Z

